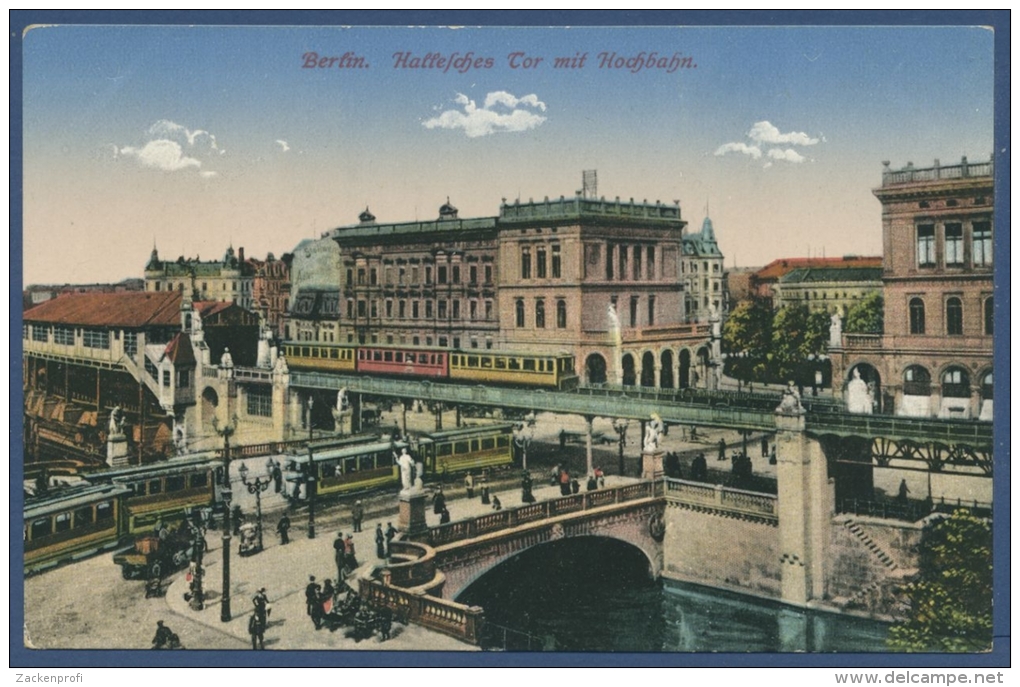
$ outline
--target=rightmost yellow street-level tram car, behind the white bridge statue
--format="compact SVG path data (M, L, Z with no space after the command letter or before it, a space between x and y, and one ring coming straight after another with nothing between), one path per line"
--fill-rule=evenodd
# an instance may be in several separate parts
M425 475L480 471L513 464L513 424L460 427L418 436Z

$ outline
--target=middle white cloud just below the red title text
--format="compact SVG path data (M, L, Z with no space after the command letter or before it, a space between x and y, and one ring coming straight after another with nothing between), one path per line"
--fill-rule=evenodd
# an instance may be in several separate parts
M534 94L517 98L506 91L494 91L486 96L482 107L478 107L473 100L458 93L454 102L463 109L446 110L422 125L425 128L460 128L469 139L475 139L498 133L526 131L546 120L545 116L531 111L546 111L546 104Z

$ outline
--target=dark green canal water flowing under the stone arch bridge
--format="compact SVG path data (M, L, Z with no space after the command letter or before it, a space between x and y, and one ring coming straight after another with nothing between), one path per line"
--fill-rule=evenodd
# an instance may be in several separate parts
M887 651L888 626L656 581L623 542L524 551L458 597L486 610L490 648L558 651Z

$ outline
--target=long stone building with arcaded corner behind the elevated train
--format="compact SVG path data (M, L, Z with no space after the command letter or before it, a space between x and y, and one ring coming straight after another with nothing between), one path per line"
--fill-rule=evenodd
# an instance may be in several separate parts
M495 217L461 218L449 200L435 220L379 222L366 209L357 224L295 250L285 330L302 340L570 352L589 382L710 383L710 329L690 324L684 304L685 224L676 204L580 193L504 201ZM718 264L707 288L721 300L710 222L697 244L688 257Z

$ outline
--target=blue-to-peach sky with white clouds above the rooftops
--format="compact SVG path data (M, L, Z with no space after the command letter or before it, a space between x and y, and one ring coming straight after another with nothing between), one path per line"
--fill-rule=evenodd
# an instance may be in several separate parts
M967 27L34 28L23 281L140 277L153 246L278 257L366 207L494 216L584 169L694 230L708 211L727 267L880 255L883 161L991 154L992 50Z

